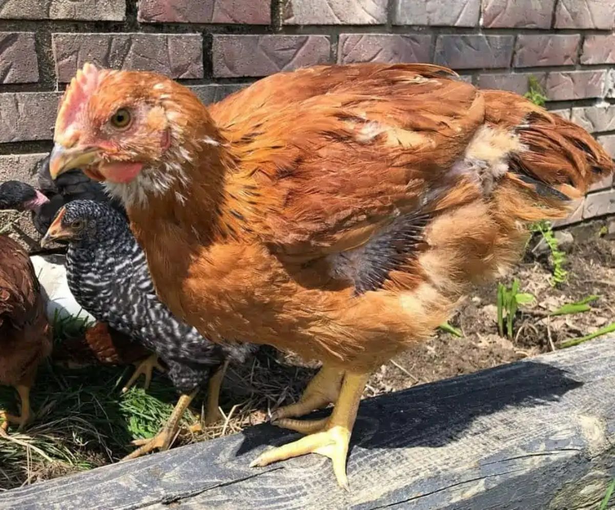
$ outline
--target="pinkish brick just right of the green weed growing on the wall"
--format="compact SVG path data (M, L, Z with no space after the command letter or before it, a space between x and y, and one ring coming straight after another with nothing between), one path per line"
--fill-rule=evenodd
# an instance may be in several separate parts
M552 101L601 97L605 88L605 71L561 71L549 73L546 95Z

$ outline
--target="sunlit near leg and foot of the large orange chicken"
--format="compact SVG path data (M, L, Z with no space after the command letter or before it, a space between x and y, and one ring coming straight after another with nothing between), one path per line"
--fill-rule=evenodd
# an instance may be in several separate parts
M346 455L361 394L369 377L370 374L346 372L333 413L329 418L326 418L326 423L319 420L320 425L323 425L322 431L284 446L267 450L261 453L250 466L262 467L272 462L299 457L306 453L318 453L333 461L333 473L335 473L338 484L349 490L346 476Z

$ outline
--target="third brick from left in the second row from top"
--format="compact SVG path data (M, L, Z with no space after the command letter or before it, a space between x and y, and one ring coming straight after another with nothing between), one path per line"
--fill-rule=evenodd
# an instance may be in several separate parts
M329 57L327 36L213 36L214 76L266 76Z

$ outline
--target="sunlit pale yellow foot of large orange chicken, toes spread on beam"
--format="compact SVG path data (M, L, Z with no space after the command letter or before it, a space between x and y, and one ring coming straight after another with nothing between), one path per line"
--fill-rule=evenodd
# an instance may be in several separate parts
M272 462L286 460L292 457L300 457L300 455L305 455L306 453L318 453L333 461L333 473L335 473L338 484L346 490L349 490L348 478L346 476L346 455L348 453L350 434L351 431L346 427L334 425L327 428L325 431L317 432L302 437L298 441L267 450L253 460L252 463L250 463L250 467L263 467Z

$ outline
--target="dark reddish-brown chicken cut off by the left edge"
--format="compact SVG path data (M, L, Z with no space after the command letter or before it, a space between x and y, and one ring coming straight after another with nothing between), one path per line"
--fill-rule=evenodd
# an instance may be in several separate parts
M16 241L0 235L0 384L14 386L21 399L19 416L0 410L3 430L9 423L22 429L30 420L30 388L51 346L51 328L30 257Z

